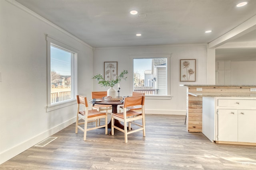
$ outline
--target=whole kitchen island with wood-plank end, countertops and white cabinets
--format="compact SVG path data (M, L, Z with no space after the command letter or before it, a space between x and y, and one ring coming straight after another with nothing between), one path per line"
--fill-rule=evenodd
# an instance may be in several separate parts
M216 143L256 145L256 86L186 86L188 132Z

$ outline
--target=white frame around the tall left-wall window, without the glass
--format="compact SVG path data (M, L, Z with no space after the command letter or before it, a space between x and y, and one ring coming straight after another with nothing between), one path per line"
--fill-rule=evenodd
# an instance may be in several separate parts
M47 107L46 111L52 111L55 109L60 109L62 107L70 106L76 104L76 94L77 94L77 54L78 50L62 43L61 41L53 38L49 35L46 36L47 41ZM64 51L74 53L71 60L71 99L58 103L51 103L51 45L54 45Z

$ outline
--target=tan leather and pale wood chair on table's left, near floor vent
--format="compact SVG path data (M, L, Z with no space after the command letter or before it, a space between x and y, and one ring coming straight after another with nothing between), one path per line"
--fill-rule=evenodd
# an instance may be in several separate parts
M103 113L98 111L97 109L88 110L88 102L87 98L84 96L77 95L77 113L76 113L76 133L78 133L78 129L84 132L84 141L86 140L87 131L98 129L105 127L105 134L108 134L108 113ZM84 107L83 111L80 111L80 105ZM84 121L79 122L79 118ZM105 125L98 126L97 120L100 118L105 118ZM90 122L95 122L95 127L88 128L87 124ZM80 125L84 124L84 128Z

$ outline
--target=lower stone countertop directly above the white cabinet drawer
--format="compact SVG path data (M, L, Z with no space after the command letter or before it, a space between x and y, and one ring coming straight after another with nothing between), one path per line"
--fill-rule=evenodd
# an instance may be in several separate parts
M256 93L210 93L210 92L188 92L188 94L196 97L254 97Z

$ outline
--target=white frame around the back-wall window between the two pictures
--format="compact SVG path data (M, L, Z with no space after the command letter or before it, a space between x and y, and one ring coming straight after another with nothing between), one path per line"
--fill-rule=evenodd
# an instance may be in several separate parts
M167 61L166 61L166 88L167 88L167 95L148 95L146 96L146 99L171 99L172 96L171 96L171 64L170 64L170 61L171 61L171 54L134 54L134 55L130 55L130 65L131 65L131 69L132 70L132 73L134 72L133 70L133 61L134 59L148 59L148 58L166 58ZM130 92L132 93L133 92L133 88L134 88L134 82L133 82L133 74L130 74L130 80L132 80L132 86L130 88Z

